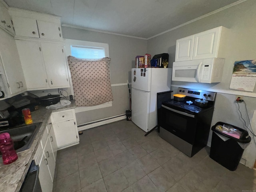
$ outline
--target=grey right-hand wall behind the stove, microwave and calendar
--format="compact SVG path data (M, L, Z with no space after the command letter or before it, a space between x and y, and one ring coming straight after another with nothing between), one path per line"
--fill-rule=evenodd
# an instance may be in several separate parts
M217 94L212 125L218 121L222 121L246 129L243 120L240 118L238 106L235 102L236 95L240 94L247 95L244 97L244 100L246 102L248 116L250 121L252 121L253 112L256 110L256 88L254 88L254 94L250 94L250 97L248 97L249 94L246 92L231 91L229 89L229 85L231 82L232 70L235 61L256 59L255 9L256 1L248 0L148 40L147 52L152 55L160 54L163 52L169 53L170 58L168 67L172 67L172 62L174 62L175 58L175 47L177 39L218 26L224 26L230 29L230 33L227 37L228 46L225 52L226 56L222 81L220 83L200 84L189 82L172 82L173 90L177 90L177 86L180 86L222 92ZM239 105L242 116L248 125L249 120L246 115L245 103L241 103ZM252 126L254 127L254 132L256 133L255 126ZM208 145L210 145L210 141L211 133L208 140ZM256 148L254 142L251 142L250 147L245 150L243 158L248 159L249 163L246 165L252 167L252 162L254 161L251 159L255 160L256 158Z

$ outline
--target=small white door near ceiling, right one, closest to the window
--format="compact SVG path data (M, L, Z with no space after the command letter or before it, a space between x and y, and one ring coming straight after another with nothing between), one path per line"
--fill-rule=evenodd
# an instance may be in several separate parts
M37 20L41 39L62 40L61 26L58 23Z

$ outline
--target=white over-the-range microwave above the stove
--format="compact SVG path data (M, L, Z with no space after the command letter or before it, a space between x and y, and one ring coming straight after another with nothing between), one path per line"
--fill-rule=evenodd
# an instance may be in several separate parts
M210 58L174 62L172 80L198 83L221 81L224 58Z

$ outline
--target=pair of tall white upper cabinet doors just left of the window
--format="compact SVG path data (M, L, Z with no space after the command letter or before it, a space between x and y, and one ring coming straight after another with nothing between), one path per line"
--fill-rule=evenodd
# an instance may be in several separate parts
M16 40L27 89L69 87L62 42Z

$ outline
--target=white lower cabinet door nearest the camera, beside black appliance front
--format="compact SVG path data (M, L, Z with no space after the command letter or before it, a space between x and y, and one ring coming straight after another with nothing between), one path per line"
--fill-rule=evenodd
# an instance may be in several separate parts
M50 176L48 161L42 154L41 162L39 164L39 181L42 188L42 192L52 192L53 183Z

